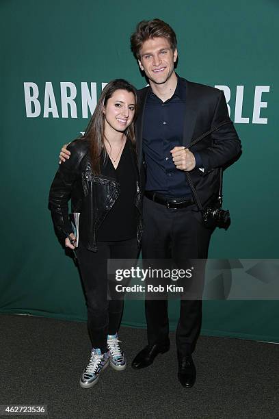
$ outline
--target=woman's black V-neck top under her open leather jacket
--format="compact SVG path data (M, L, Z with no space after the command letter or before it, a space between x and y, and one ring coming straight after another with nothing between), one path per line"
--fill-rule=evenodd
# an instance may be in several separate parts
M126 141L117 168L107 156L102 174L116 179L120 196L97 231L97 241L129 240L137 236L137 209L135 207L137 168L129 140Z

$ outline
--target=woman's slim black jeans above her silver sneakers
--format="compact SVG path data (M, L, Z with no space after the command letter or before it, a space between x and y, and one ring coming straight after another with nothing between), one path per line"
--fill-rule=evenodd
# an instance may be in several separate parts
M122 318L123 299L113 299L115 281L107 277L107 259L137 259L137 239L97 242L92 252L79 243L77 259L88 303L88 332L93 348L107 352L107 335L114 335ZM110 298L110 299L109 299Z

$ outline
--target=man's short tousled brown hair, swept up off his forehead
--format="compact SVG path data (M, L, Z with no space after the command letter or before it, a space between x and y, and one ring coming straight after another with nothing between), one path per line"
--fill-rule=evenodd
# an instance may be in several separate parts
M140 59L139 51L143 43L148 39L166 38L170 42L172 51L176 49L176 34L174 30L160 19L152 19L152 21L141 21L137 24L135 32L131 35L131 50L136 60Z

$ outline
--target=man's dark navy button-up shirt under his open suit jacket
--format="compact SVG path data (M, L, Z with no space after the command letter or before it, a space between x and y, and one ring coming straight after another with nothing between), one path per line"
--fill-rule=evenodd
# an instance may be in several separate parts
M163 102L152 91L148 94L144 112L143 152L146 162L146 190L170 198L189 199L191 190L185 172L176 168L172 150L182 146L186 91L177 76L173 96ZM198 153L194 153L196 166L202 167Z

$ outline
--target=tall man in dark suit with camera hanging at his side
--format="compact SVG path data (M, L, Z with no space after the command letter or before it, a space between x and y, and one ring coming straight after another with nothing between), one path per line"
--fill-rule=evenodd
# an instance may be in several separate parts
M131 36L131 49L150 86L139 90L137 153L146 170L143 259L206 259L213 229L202 223L186 172L204 207L217 196L219 168L241 153L241 145L221 90L178 77L176 35L159 19L142 21ZM213 134L187 148L205 132ZM64 155L65 157L65 155ZM135 369L152 364L170 348L168 301L146 299L148 345L133 360ZM201 299L181 299L176 329L178 380L196 381L194 352L202 320Z

